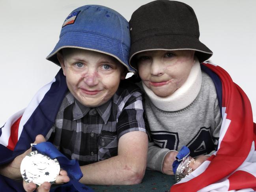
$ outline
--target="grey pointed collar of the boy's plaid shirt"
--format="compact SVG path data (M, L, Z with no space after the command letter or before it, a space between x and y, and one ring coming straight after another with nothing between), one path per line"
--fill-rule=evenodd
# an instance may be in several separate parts
M107 103L102 104L101 106L95 107L95 110L103 119L104 123L107 124L108 118L110 117L112 107L112 99L108 100ZM80 119L84 117L91 109L90 107L84 106L82 103L77 101L74 98L74 106L73 106L73 120Z

